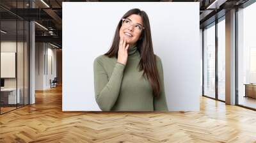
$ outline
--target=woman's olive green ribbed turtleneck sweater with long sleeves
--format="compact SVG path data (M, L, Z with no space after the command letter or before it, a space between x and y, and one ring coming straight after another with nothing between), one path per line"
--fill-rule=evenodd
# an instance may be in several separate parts
M95 99L103 111L168 111L164 93L163 66L156 56L161 94L154 98L152 87L143 71L139 72L140 53L136 46L129 48L126 65L116 57L102 55L95 59Z

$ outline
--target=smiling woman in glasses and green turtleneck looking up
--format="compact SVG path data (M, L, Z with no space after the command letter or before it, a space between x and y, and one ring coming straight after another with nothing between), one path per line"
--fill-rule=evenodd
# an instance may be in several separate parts
M103 111L168 111L161 59L154 55L147 13L127 11L109 51L95 59L95 99Z

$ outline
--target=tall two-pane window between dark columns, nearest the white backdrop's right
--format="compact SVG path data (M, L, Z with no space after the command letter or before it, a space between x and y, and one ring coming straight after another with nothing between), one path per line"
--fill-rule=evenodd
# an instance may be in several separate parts
M225 102L225 16L203 29L203 96Z

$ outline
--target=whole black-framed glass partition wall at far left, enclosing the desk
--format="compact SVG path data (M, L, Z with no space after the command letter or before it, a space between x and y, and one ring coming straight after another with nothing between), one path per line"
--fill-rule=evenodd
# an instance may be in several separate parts
M13 10L27 7L26 3L13 1ZM29 22L3 7L0 13L0 114L3 114L29 103Z

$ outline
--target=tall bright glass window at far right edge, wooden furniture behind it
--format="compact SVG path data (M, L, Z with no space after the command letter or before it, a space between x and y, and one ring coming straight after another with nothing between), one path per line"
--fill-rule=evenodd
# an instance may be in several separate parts
M237 11L238 105L256 109L256 3Z

